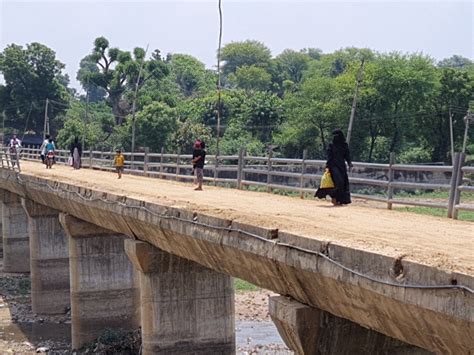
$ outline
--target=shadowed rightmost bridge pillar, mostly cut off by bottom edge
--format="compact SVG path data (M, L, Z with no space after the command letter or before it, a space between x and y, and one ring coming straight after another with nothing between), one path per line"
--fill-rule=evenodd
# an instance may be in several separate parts
M288 297L270 297L269 308L285 344L297 355L431 354Z

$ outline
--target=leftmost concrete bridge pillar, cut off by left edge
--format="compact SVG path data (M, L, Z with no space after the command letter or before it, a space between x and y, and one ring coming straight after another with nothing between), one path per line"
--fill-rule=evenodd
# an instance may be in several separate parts
M21 206L19 195L1 191L3 271L30 271L30 244L28 237L28 217Z

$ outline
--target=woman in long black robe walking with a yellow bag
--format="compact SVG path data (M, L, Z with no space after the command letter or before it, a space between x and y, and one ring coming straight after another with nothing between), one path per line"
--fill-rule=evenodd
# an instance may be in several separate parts
M315 196L326 198L326 195L329 195L332 198L333 205L346 205L351 203L346 162L349 165L349 168L352 168L352 161L349 146L344 138L344 133L342 133L340 129L335 129L332 132L332 135L332 143L329 144L327 150L328 160L326 162L326 167L331 173L335 188L318 189Z

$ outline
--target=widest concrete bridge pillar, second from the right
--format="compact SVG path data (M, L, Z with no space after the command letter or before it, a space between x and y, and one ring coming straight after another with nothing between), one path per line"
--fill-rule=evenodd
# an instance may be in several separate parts
M140 272L143 354L235 354L231 277L125 241Z

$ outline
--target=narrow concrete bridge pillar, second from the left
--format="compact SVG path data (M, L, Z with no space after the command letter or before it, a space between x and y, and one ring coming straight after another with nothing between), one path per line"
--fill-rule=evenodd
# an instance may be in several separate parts
M33 312L65 313L71 304L69 249L59 211L28 199L21 203L28 215Z

